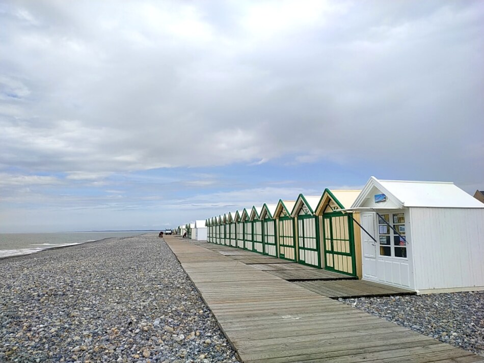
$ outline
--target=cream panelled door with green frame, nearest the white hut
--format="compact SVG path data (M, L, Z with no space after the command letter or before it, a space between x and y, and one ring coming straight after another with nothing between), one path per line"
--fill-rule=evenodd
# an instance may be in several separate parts
M352 217L328 213L323 220L326 269L356 276Z

